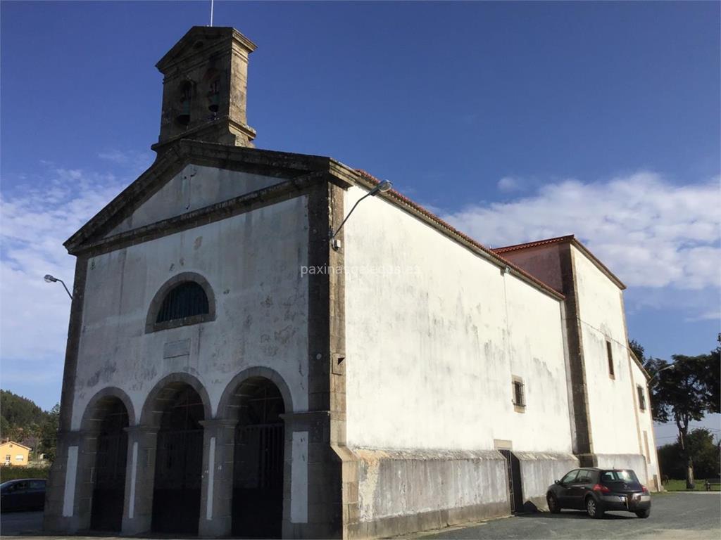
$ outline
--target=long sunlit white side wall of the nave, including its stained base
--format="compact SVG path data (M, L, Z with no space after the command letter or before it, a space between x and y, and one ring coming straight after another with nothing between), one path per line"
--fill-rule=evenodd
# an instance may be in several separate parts
M345 207L363 194L349 189ZM350 536L508 513L500 448L523 453L522 475L546 472L523 482L523 500L541 502L578 464L562 302L381 198L348 220L344 251L347 439L360 462Z

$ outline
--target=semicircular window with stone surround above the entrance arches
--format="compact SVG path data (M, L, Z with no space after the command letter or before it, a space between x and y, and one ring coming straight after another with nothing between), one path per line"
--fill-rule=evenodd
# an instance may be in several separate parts
M169 279L151 302L146 332L215 320L213 289L195 272L183 272Z

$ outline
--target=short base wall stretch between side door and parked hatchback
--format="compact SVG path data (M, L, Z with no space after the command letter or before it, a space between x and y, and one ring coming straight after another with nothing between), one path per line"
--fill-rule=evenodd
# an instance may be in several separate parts
M523 509L548 510L546 493L554 480L560 480L564 474L578 468L578 458L573 454L523 452L513 454L521 463L521 490Z

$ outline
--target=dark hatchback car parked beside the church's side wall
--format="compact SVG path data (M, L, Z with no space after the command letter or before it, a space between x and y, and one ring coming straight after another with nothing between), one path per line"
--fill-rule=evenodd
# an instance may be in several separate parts
M548 509L585 510L592 518L603 518L609 510L633 512L640 518L651 513L651 495L631 469L574 469L548 488Z

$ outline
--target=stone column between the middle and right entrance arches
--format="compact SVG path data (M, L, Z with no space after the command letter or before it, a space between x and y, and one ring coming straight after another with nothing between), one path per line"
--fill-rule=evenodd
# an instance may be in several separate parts
M202 420L203 477L198 536L230 536L233 525L233 453L238 420Z

